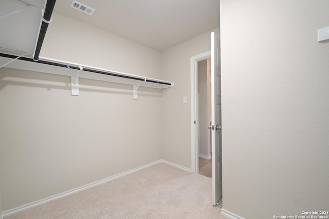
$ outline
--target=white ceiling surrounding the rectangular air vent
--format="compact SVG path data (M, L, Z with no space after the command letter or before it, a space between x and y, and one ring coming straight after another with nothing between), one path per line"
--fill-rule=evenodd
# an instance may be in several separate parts
M55 11L156 50L220 26L219 0L80 0L92 16L57 0Z

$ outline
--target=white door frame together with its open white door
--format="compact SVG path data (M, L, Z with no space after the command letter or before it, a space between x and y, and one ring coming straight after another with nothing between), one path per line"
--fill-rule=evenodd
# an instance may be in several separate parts
M222 91L221 91L221 49L220 39L211 32L211 51L191 57L191 166L199 173L199 101L198 101L198 62L211 58L211 160L212 160L212 205L220 203L222 186Z

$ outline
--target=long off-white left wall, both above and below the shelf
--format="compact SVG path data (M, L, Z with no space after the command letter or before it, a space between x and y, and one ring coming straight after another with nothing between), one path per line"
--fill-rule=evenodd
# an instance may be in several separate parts
M41 56L157 78L160 53L60 14ZM169 79L169 78L168 78ZM0 69L2 210L159 160L161 90Z

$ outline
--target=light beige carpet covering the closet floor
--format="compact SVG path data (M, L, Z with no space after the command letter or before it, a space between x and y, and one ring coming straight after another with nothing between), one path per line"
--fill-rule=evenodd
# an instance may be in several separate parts
M227 218L211 205L211 178L160 163L5 217Z

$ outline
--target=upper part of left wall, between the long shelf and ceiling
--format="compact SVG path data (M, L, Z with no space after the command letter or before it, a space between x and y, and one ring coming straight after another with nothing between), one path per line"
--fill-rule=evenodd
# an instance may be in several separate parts
M53 14L40 56L158 78L160 52L59 13Z

